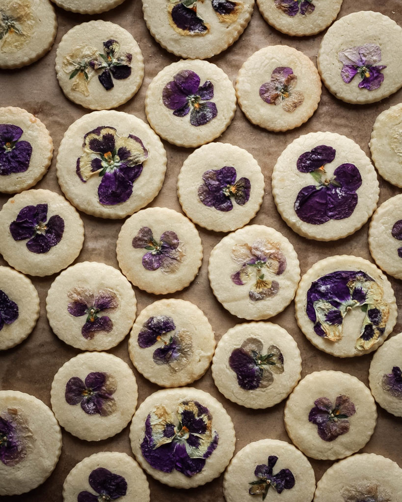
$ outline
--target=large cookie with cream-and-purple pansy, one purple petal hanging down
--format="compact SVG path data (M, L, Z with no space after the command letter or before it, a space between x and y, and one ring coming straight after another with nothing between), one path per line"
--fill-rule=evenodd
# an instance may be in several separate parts
M78 209L100 218L124 218L158 194L166 152L135 115L94 111L67 129L56 172L65 196Z

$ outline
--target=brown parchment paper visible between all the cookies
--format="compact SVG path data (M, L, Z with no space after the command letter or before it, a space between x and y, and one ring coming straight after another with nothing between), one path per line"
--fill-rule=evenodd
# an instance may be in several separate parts
M85 0L83 0L84 2ZM331 2L331 0L328 0ZM344 0L338 15L342 16L361 9L379 11L389 16L399 25L402 24L401 0ZM146 121L144 109L145 91L152 78L168 64L180 58L162 49L151 37L142 17L140 0L126 0L118 8L101 15L83 16L72 14L56 7L58 32L52 50L36 63L18 69L0 70L0 106L20 106L26 108L40 118L49 129L54 142L54 158L46 176L35 188L47 188L61 194L55 174L55 161L58 147L64 132L70 124L88 113L89 110L76 105L64 97L58 86L54 60L57 44L61 37L74 25L96 19L112 21L123 26L133 34L140 45L145 59L145 77L139 92L126 104L118 109L134 113ZM229 78L235 82L237 72L243 62L258 49L267 45L283 44L294 47L307 54L316 64L318 48L325 32L312 37L290 37L271 28L261 17L257 6L251 22L240 39L235 44L210 61L221 67ZM395 58L401 61L402 55L395 53ZM12 56L11 56L12 57ZM353 85L357 85L355 82ZM302 127L286 133L270 133L251 124L239 107L227 131L218 141L232 143L248 150L258 161L265 177L265 195L260 211L250 223L272 226L282 232L293 244L300 260L300 268L304 274L314 263L327 256L356 255L373 261L370 257L366 223L354 235L332 241L318 242L300 237L294 233L280 218L276 211L271 193L272 168L279 154L295 138L316 131L331 131L343 134L353 139L370 155L368 142L372 125L376 116L383 110L402 100L402 89L380 102L369 105L351 105L337 100L323 86L323 93L318 110ZM1 117L0 117L1 119ZM166 178L159 195L150 206L164 206L181 212L176 195L176 181L180 167L186 157L194 149L178 148L163 142L167 152ZM401 193L401 190L384 181L380 176L379 204L388 198ZM8 196L0 195L0 202ZM85 226L85 241L82 251L74 263L86 260L103 262L118 268L116 259L116 240L124 220L98 219L80 213ZM204 246L202 268L194 282L183 291L168 297L189 300L201 308L208 316L216 334L217 341L235 324L244 322L229 314L215 299L208 281L208 259L211 249L225 235L214 233L197 227ZM1 238L1 236L0 236ZM0 265L7 263L0 258ZM33 394L50 406L50 386L54 374L59 367L80 351L60 341L51 331L45 310L47 291L56 275L46 278L31 278L36 286L41 300L41 314L38 323L26 341L0 354L0 389L18 390ZM389 277L400 308L402 298L402 283ZM137 297L137 312L162 296L147 294L135 288ZM334 369L351 373L368 385L368 368L371 354L361 357L340 359L316 349L298 329L294 319L293 302L279 315L269 319L288 330L297 341L302 353L302 377L315 370ZM398 322L393 333L402 331L402 316L399 313ZM133 368L127 350L128 337L109 352L125 361ZM139 403L158 386L148 382L133 368L139 387ZM211 369L202 379L194 383L194 387L210 392L226 408L231 416L236 430L236 452L246 444L263 438L279 439L290 442L283 425L284 401L266 410L250 410L226 400L217 390L211 376ZM401 422L400 419L388 414L377 406L378 422L374 434L362 452L372 452L391 458L401 463ZM120 434L99 442L79 440L63 430L63 448L60 460L44 484L29 493L13 497L0 497L13 502L61 502L62 484L72 467L84 457L99 451L123 451L131 453L129 442L129 427ZM332 461L310 459L319 480ZM205 486L190 490L169 488L148 476L151 488L151 500L190 502L193 500L210 502L224 501L222 479L219 478Z

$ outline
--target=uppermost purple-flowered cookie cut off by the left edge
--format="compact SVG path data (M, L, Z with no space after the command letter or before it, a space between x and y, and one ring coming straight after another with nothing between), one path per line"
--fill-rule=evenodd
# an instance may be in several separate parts
M22 192L50 166L52 138L39 118L22 108L0 108L0 122L0 192Z

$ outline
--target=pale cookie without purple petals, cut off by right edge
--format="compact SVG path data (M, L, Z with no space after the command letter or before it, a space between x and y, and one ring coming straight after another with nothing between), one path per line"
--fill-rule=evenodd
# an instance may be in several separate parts
M378 115L369 145L380 175L392 185L402 187L402 103Z

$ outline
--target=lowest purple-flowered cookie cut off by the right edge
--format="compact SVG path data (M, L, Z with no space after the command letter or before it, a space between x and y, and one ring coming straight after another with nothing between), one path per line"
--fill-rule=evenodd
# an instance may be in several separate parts
M375 352L368 381L377 403L392 415L402 417L402 333L392 336Z

